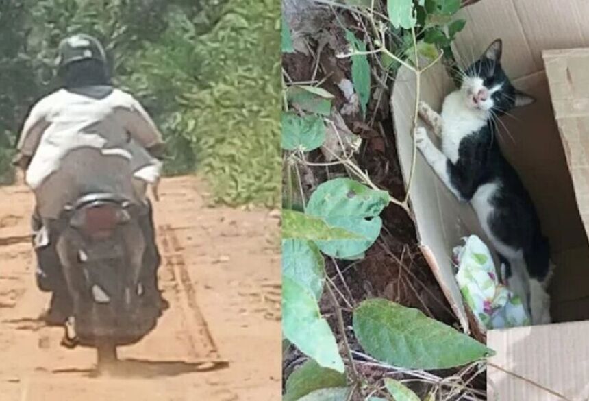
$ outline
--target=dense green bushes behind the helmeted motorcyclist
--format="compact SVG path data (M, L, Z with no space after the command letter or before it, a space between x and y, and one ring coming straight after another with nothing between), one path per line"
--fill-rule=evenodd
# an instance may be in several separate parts
M277 205L279 10L270 0L3 1L0 175L27 111L55 88L58 43L86 32L162 130L167 174L202 171L216 202Z

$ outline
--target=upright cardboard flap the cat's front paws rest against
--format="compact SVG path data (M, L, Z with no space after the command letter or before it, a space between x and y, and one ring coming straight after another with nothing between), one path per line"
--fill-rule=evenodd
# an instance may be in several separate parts
M453 83L442 64L438 64L421 77L421 99L434 110L440 110L442 99L453 90ZM415 75L401 68L392 90L397 152L405 185L408 184L413 159L413 118L415 110ZM423 123L419 123L423 125ZM433 134L430 133L430 136ZM458 202L440 178L418 152L414 178L410 189L410 201L416 222L416 232L423 254L436 275L442 291L458 317L465 332L469 332L468 317L462 302L462 294L454 278L452 250L462 238L477 234L486 241L475 212L470 205Z

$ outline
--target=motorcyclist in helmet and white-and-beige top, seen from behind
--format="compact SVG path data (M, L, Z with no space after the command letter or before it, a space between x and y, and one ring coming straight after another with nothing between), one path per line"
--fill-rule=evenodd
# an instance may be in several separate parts
M144 108L112 86L105 51L96 38L77 34L62 40L57 68L62 87L30 111L14 160L26 171L25 181L36 197L36 276L38 287L52 292L51 304L41 316L49 324L62 324L71 314L51 222L85 189L118 193L145 204L147 212L139 221L147 243L144 260L157 269L160 255L146 189L159 180L158 158L164 149ZM157 290L157 274L153 280ZM154 302L159 303L156 292Z

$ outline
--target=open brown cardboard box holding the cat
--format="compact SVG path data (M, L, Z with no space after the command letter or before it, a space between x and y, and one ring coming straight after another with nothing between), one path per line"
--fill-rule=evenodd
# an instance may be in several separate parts
M547 52L547 70L542 59L545 50L589 47L589 1L481 0L462 10L462 17L466 27L454 44L460 64L470 64L492 40L501 38L503 69L516 88L537 99L512 110L513 117L503 117L501 148L520 174L550 239L557 265L550 289L553 321L589 320L589 52ZM572 91L571 83L577 85ZM440 64L422 77L421 99L436 110L451 90L453 84ZM411 71L399 71L391 102L407 182L415 102ZM471 332L474 327L454 279L451 251L469 234L490 243L471 206L455 199L421 154L410 199L423 253L462 328ZM487 343L498 354L490 360L489 391L494 389L505 401L589 400L586 338L589 322L491 330Z

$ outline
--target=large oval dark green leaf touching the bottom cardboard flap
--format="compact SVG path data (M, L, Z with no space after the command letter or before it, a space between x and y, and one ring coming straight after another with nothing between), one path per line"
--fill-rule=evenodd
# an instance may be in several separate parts
M380 361L408 369L447 369L494 354L421 311L388 300L366 300L353 314L362 348Z

